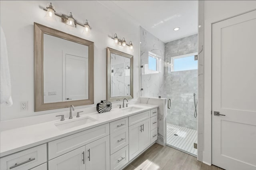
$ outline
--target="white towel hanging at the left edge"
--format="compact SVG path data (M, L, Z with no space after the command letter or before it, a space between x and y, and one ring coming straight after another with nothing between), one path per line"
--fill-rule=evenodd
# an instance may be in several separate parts
M6 39L4 31L1 27L0 32L0 103L6 103L7 106L12 105L11 97L11 80L8 63L8 53L6 47Z

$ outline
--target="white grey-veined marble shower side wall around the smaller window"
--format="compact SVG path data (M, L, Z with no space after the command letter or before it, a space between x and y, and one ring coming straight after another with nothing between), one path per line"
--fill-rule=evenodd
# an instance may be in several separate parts
M141 77L141 97L165 97L165 52L164 42L150 34L144 28L140 27L140 65L143 65L140 71ZM145 67L148 65L148 52L158 55L160 58L161 71L159 73L145 73Z

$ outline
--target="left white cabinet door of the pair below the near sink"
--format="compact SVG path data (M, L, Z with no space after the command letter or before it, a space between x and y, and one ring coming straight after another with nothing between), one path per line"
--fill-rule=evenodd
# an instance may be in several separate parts
M85 146L49 161L49 170L85 170Z

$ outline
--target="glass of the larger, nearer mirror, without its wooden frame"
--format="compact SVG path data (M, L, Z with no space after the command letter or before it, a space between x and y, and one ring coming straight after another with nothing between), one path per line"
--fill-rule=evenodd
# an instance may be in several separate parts
M88 46L44 35L44 103L88 99Z

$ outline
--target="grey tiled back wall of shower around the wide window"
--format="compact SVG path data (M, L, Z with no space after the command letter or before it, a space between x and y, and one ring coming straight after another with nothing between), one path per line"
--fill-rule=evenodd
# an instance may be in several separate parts
M166 61L171 57L196 53L198 35L192 35L165 44ZM197 118L194 117L194 98L198 100L198 71L174 71L171 65L166 68L166 98L171 99L171 109L167 109L166 122L197 130Z

